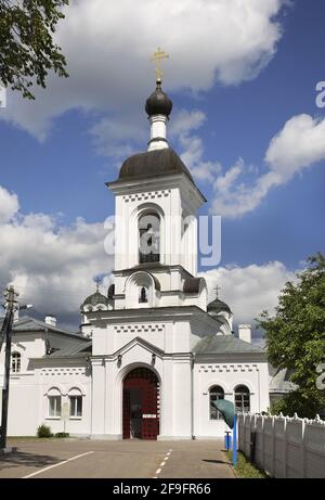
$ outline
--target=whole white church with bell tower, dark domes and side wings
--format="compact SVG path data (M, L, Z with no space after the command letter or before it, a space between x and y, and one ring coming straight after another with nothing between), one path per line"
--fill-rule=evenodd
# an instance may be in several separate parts
M14 323L9 435L93 439L199 439L227 428L211 401L237 411L270 406L263 349L249 325L233 333L231 308L207 304L197 278L197 219L205 197L169 146L172 102L157 80L145 111L148 149L108 182L115 195L114 284L81 305L78 333L54 317ZM0 387L4 346L0 352Z

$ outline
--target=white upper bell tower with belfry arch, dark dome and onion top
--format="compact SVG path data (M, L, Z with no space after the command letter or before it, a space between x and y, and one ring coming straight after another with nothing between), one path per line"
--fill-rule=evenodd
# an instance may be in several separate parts
M206 284L196 278L196 213L206 200L168 143L172 101L160 76L145 103L147 151L106 184L115 194L114 308L193 305L195 297L206 310Z

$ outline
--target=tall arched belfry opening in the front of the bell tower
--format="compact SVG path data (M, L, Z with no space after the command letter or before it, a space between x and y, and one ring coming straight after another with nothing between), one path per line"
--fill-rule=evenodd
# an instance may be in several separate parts
M155 213L144 214L139 219L139 261L159 262L160 218Z

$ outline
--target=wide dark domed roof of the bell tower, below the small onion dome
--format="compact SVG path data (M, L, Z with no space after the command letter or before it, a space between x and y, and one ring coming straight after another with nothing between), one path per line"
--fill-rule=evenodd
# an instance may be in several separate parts
M185 174L194 183L188 169L179 155L171 148L164 148L130 156L120 168L118 181L174 174Z

